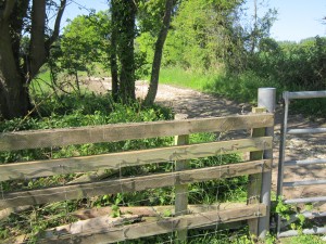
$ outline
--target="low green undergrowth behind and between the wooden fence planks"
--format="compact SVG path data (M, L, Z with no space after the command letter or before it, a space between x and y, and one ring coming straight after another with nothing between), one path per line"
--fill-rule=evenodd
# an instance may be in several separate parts
M74 93L51 95L35 94L35 101L41 101L37 108L37 116L4 120L0 131L20 131L35 129L65 128L91 125L106 125L115 123L153 121L172 119L168 108L159 106L142 107L139 103L122 105L114 103L109 94ZM200 133L190 137L191 143L216 140L214 133ZM137 149L160 147L173 144L172 138L156 138L147 140L128 140L115 143L96 143L70 145L63 147L22 150L0 153L2 164L15 162L53 159L71 156L86 156ZM239 162L238 155L216 156L190 162L191 168L209 167L214 165ZM168 172L174 170L172 163L154 164L137 167L125 167L118 171L105 171L104 178L147 175L150 172ZM32 190L45 187L63 185L80 178L80 174L59 175L32 180L14 180L1 182L1 192L14 190ZM189 185L190 204L213 204L228 201L246 201L247 177L212 180L204 183ZM103 195L76 201L65 201L27 207L20 214L12 214L0 221L0 240L21 234L29 235L29 241L37 241L42 230L76 221L73 213L85 207L112 206L116 209L122 206L155 206L174 204L173 188L153 189L143 192ZM29 220L32 221L29 221ZM28 221L27 221L28 220ZM167 236L167 235L166 235ZM171 237L171 236L170 236ZM160 237L155 239L160 240ZM163 239L162 239L163 240Z

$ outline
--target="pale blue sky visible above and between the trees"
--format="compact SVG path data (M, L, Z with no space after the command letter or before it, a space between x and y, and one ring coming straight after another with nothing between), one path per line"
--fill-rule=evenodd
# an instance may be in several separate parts
M252 13L254 0L247 0L248 14ZM308 37L326 36L325 0L265 0L269 8L275 8L278 12L277 21L271 29L271 37L280 40L300 41ZM68 5L63 16L74 18L78 14L87 14L86 9L96 11L108 9L108 0L74 0ZM250 12L251 11L251 12ZM264 11L264 8L261 8ZM64 23L62 23L64 25Z

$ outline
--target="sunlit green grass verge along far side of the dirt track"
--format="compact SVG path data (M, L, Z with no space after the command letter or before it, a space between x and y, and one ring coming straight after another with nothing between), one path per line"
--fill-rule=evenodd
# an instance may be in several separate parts
M276 88L277 100L281 98L284 91L310 90L309 88L281 84L269 78L262 78L252 72L236 75L226 73L223 69L199 73L178 67L162 68L160 82L190 88L212 95L222 95L237 102L247 102L253 105L256 104L258 89L262 87ZM302 113L310 117L325 117L326 99L296 100L291 104L292 113Z

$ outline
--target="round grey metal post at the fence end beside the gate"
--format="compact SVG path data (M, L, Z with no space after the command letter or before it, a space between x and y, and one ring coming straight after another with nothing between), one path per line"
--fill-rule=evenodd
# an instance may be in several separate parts
M258 105L263 106L268 113L275 114L276 107L276 88L259 88ZM274 137L274 126L266 128L266 136ZM264 158L273 159L273 150L264 152ZM269 210L271 210L271 189L272 189L272 170L262 175L261 202L267 206L265 217L259 219L259 237L265 239L269 230Z

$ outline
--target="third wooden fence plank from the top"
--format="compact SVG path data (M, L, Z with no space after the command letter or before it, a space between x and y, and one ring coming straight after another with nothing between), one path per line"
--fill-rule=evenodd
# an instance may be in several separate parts
M261 172L262 168L264 171L269 171L271 165L271 159L256 160L92 183L10 192L1 195L0 209L246 176Z

